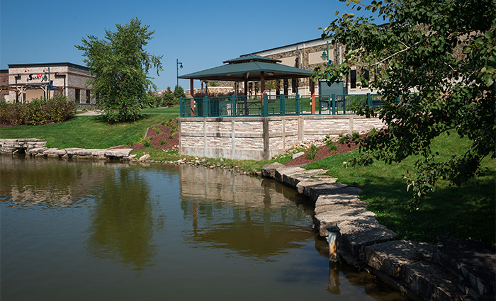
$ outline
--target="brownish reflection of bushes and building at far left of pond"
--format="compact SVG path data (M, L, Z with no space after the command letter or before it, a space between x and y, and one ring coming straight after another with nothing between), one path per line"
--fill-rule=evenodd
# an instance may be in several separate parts
M0 156L0 199L15 205L45 208L84 198L100 179L113 174L106 161L74 161Z

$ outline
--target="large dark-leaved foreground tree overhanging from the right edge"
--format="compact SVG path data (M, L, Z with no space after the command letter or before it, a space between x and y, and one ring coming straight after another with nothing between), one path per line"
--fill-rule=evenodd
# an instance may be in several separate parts
M344 1L344 0L340 0ZM496 1L385 0L363 5L387 21L345 13L323 29L322 38L346 45L342 64L317 67L315 77L336 81L352 65L376 76L369 84L382 96L382 108L356 108L378 115L387 125L367 137L351 164L390 164L412 155L416 174L405 175L407 188L420 200L440 179L460 186L480 174L480 161L496 158ZM338 16L338 12L336 16ZM468 137L463 154L442 159L432 152L439 135ZM353 139L353 138L351 138Z

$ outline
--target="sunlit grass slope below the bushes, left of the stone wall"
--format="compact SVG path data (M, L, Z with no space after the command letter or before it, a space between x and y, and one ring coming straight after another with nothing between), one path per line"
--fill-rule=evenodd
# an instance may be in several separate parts
M148 127L179 116L179 107L147 108L135 123L109 125L101 116L75 116L54 125L0 127L0 138L41 138L47 147L101 149L137 142Z

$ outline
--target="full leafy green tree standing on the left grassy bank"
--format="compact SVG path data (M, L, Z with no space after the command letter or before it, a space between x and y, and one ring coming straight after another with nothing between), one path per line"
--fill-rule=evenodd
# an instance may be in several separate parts
M109 122L124 122L140 118L140 109L148 89L156 86L147 76L150 69L162 71L162 56L145 51L154 30L141 25L137 18L128 24L115 24L117 31L105 30L105 39L94 35L82 38L83 45L75 47L84 51L84 62L94 76L89 79L93 93Z

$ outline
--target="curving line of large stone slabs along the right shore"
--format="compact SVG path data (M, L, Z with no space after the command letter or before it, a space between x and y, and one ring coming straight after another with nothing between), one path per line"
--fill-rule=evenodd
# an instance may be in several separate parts
M261 169L315 202L314 227L327 237L337 226L339 252L348 263L381 278L413 300L496 300L496 254L489 245L439 236L438 244L399 240L359 200L360 188L273 163Z

